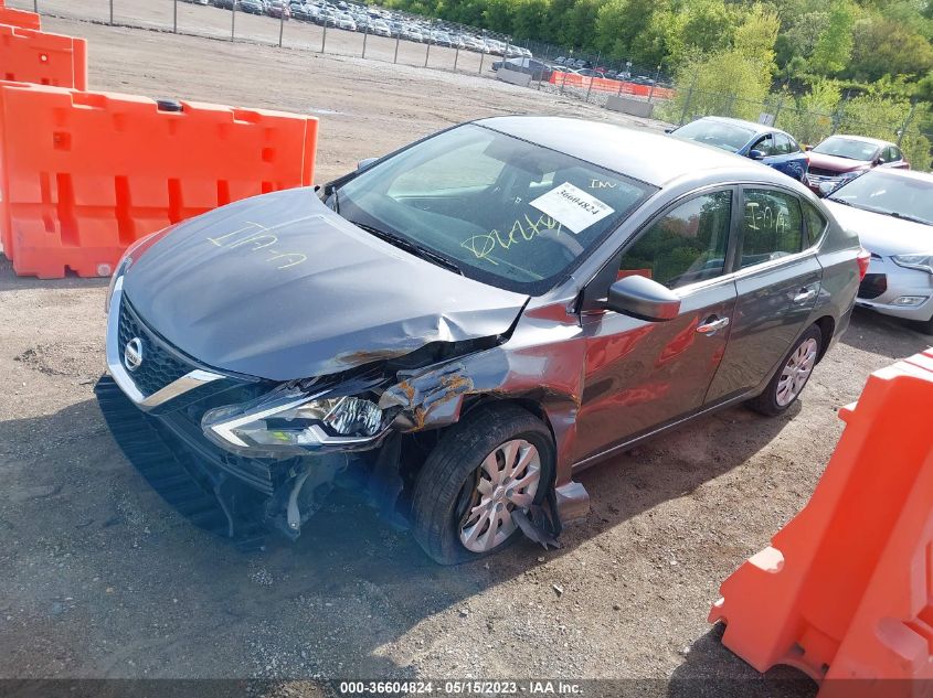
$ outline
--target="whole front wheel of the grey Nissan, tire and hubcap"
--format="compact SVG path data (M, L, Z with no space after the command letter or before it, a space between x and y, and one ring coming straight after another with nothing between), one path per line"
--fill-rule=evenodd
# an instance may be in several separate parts
M553 439L540 419L515 405L477 408L418 473L415 539L442 565L501 550L519 536L512 514L544 500L553 470Z

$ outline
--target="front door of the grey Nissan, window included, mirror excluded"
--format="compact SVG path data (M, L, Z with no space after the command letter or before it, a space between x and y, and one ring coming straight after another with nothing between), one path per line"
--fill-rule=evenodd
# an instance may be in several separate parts
M703 404L729 337L735 286L725 271L731 189L675 204L619 258L681 297L678 318L647 322L613 311L583 316L585 384L574 460L650 431Z

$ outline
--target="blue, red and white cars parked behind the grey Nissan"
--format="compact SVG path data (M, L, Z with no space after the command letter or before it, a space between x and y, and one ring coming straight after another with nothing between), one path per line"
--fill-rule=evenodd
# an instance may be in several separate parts
M911 171L895 143L836 133L809 148L780 129L723 117L669 132L757 160L824 197L871 255L857 304L933 334L933 175Z

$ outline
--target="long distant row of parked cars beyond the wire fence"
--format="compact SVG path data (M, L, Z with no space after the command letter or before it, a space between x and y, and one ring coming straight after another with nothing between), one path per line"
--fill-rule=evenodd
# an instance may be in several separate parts
M327 25L351 32L365 32L377 36L399 37L416 43L434 44L449 49L475 51L505 57L531 57L531 51L511 45L447 22L430 22L385 8L357 4L339 0L188 0L200 4L250 14L265 14L276 19L295 19L301 22Z

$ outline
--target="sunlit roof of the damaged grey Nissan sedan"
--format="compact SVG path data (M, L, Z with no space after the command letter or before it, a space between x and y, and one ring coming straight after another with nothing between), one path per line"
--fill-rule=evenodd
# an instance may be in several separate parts
M786 174L741 155L644 129L566 117L508 116L476 124L662 187L688 174L786 184Z

